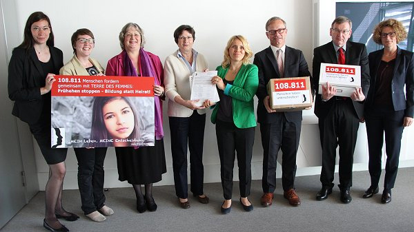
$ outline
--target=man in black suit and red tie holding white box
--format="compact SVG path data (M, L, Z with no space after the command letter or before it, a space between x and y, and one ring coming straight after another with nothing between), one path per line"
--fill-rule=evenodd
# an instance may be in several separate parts
M361 66L361 88L355 89L350 98L335 96L336 89L329 83L322 86L322 93L315 97L315 114L319 118L322 146L322 189L317 200L325 200L332 193L336 148L339 145L340 200L351 202L352 166L359 122L364 122L364 99L369 88L369 66L366 46L348 41L352 34L351 19L337 17L330 29L332 41L313 50L313 85L319 86L321 63Z

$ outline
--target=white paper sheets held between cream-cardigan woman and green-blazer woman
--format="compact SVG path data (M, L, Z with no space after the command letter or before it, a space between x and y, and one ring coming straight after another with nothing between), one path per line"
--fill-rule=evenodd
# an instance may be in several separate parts
M193 73L190 100L199 100L196 103L197 106L203 105L207 99L213 103L220 101L216 85L211 83L213 76L217 76L217 71Z

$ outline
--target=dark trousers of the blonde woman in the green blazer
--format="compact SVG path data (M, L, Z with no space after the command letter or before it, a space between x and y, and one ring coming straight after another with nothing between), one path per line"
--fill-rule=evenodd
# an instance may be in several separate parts
M250 195L252 182L251 162L253 143L255 141L255 127L240 129L234 123L220 120L216 122L217 146L220 156L221 186L224 199L230 200L233 192L233 167L237 153L239 167L240 196Z

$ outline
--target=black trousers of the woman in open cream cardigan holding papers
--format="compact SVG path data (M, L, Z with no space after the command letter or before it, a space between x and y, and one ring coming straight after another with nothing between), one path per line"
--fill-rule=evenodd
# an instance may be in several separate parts
M172 170L175 193L179 198L188 198L187 145L190 149L190 191L203 194L204 166L203 145L206 114L194 110L188 118L169 117L171 132Z

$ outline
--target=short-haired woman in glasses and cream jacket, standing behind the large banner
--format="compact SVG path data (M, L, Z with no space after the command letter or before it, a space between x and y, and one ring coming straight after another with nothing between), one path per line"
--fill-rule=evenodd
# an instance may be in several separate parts
M75 55L61 67L61 75L103 76L103 67L90 53L95 48L95 37L86 28L72 34L72 48ZM75 148L78 161L78 186L81 193L82 211L95 222L106 220L105 216L114 213L105 205L103 195L103 160L106 147Z

